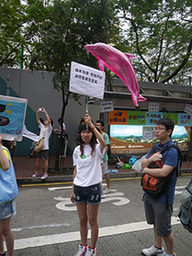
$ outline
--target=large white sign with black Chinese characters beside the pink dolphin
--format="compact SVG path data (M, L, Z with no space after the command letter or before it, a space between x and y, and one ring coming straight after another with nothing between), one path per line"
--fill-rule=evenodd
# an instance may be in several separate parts
M72 61L69 91L103 99L104 87L104 72Z

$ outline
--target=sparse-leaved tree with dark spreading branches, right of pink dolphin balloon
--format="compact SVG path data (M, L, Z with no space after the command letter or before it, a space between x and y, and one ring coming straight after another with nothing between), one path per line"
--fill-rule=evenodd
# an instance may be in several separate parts
M166 83L191 68L192 26L189 0L119 0L128 29L123 42L144 80Z

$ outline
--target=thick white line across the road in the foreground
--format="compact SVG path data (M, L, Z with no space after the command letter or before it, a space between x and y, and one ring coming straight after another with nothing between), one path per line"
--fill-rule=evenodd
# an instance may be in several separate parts
M172 225L180 224L177 217L172 217ZM109 227L103 227L99 229L99 237L102 236L114 236L119 234L125 234L141 230L153 229L152 225L143 222L121 224ZM88 232L88 238L90 238L90 230ZM80 232L69 232L63 234L55 234L50 236L35 236L23 239L15 240L15 250L24 249L26 247L42 247L51 244L64 243L69 241L79 241ZM5 244L4 244L5 245Z

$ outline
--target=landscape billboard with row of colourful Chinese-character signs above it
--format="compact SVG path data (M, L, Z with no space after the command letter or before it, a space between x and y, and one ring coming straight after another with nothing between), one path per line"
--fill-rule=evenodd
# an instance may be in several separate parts
M120 113L120 114L119 114ZM127 114L127 123L122 125L119 116ZM117 122L113 122L117 117ZM111 119L110 119L111 118ZM183 152L190 149L190 130L192 118L187 113L155 113L143 111L113 111L109 115L109 134L112 154L147 154L153 143L159 143L155 137L155 125L158 119L169 118L175 122L172 141Z

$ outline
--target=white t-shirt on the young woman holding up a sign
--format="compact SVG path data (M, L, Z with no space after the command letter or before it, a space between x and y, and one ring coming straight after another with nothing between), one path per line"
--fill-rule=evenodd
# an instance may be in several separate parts
M102 182L101 160L105 148L101 153L100 144L96 144L96 150L91 155L90 145L84 145L84 155L81 157L80 146L73 151L73 166L76 166L77 174L73 183L77 186L88 187Z

